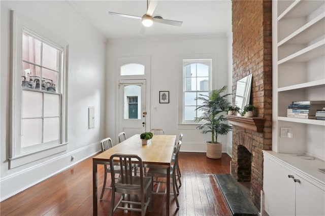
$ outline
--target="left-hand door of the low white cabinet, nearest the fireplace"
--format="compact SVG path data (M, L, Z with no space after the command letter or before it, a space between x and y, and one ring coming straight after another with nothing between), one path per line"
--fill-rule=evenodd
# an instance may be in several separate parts
M279 163L264 160L265 210L270 215L295 215L295 182Z

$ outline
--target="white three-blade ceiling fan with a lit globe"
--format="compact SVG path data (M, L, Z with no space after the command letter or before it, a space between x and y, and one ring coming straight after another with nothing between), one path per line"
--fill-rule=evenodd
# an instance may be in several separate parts
M142 24L146 27L151 26L153 24L153 22L159 22L159 23L163 23L163 24L176 25L176 26L182 25L182 23L183 23L182 21L163 19L163 17L161 17L161 16L152 16L156 6L157 6L157 1L151 0L150 4L149 4L149 1L147 0L147 13L145 13L142 17L128 15L128 14L120 14L120 13L115 13L115 12L108 12L108 13L110 15L115 15L115 16L120 16L120 17L141 19Z

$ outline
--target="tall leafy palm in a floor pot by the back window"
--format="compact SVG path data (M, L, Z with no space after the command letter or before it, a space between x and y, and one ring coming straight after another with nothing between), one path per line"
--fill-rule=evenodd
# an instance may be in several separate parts
M197 129L202 130L203 134L211 132L211 141L207 141L208 158L221 158L222 144L218 142L218 136L228 134L232 130L224 117L225 111L231 104L227 99L231 94L221 95L226 88L227 86L223 86L221 89L212 90L208 96L200 94L201 97L196 98L203 101L196 109L203 112L201 117L195 119L196 122L202 122Z

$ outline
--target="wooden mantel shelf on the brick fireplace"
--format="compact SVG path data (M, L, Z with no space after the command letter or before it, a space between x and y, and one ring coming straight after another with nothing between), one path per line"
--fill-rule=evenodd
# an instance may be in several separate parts
M264 123L266 118L246 118L241 116L225 116L226 119L228 119L228 122L232 125L236 125L238 127L242 127L245 129L257 131L257 132L263 132L264 129Z

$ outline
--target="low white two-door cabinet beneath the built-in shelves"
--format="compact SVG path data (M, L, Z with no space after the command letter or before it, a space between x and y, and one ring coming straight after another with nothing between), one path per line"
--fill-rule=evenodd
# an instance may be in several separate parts
M316 170L316 167L324 167L325 162L304 160L296 154L263 153L266 212L269 215L325 215L325 174ZM311 167L315 167L315 172L305 173Z

